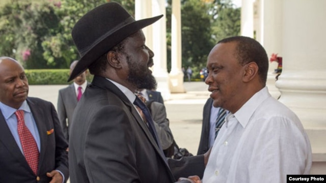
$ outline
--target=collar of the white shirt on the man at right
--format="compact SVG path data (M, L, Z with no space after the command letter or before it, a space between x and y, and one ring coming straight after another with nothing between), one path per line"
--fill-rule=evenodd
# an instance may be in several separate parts
M253 95L246 103L244 103L238 111L234 113L234 116L243 128L247 126L251 116L254 114L258 106L268 97L271 96L268 93L267 86L265 86L259 90L259 92Z

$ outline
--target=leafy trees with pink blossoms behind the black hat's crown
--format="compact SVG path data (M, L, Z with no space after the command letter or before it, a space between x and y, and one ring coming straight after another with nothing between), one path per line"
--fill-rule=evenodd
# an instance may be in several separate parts
M73 26L84 14L107 1L7 3L0 7L0 54L22 60L26 69L68 68L79 59L71 37ZM132 0L115 2L134 14Z

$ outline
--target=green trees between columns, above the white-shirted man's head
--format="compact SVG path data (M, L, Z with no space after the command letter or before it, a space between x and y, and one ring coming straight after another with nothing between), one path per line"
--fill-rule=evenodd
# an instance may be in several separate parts
M172 0L167 1L168 71L171 70L171 13ZM206 66L207 56L214 44L225 37L240 34L240 9L231 0L182 0L182 67L190 66L194 78Z

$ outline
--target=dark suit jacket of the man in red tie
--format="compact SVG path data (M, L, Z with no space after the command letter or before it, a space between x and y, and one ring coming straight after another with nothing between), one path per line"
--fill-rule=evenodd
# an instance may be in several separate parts
M56 169L64 174L67 181L68 144L62 133L55 107L50 102L38 98L29 97L26 100L40 134L41 150L37 173L40 181L36 180L0 112L0 182L49 182L51 178L46 176L46 172ZM53 133L47 134L51 129L54 130Z

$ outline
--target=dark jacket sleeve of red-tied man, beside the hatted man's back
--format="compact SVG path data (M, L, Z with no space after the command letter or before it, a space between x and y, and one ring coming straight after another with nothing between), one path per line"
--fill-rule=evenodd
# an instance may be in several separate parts
M59 124L58 114L55 106L51 104L51 115L53 119L53 126L56 135L56 170L61 171L65 176L65 182L69 177L68 170L68 143L62 133L61 126Z

